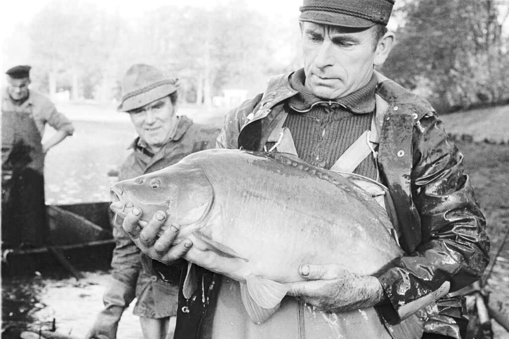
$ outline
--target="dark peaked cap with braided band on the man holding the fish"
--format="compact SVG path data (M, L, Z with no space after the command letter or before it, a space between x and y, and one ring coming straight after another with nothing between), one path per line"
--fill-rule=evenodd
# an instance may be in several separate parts
M300 21L333 26L387 25L394 0L304 0Z

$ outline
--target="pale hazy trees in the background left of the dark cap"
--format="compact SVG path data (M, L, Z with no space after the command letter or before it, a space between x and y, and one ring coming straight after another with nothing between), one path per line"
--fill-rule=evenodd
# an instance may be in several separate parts
M289 63L272 56L295 41L277 18L243 0L212 9L166 5L133 19L87 2L53 0L21 28L32 65L44 70L37 82L51 94L69 89L74 99L119 99L120 79L133 63L179 77L185 101L210 104L224 88L258 92L269 71ZM11 39L11 54L20 34Z

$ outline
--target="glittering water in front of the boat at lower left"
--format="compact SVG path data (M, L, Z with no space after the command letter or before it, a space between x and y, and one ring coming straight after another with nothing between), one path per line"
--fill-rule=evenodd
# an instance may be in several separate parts
M108 284L107 271L83 272L76 280L64 272L32 276L4 277L2 281L2 337L15 337L16 329L36 333L54 328L59 333L83 338L102 309L102 295ZM142 339L138 317L132 305L124 312L118 338ZM9 329L12 327L12 330Z

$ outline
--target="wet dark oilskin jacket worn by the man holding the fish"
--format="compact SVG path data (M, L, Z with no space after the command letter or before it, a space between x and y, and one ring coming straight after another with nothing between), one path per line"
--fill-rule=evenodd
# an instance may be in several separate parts
M272 78L264 94L230 111L217 147L264 150L279 114L289 109L287 99L297 94L289 77ZM406 254L376 276L388 300L380 312L389 323L398 323L482 276L489 262L489 239L463 173L463 155L447 138L434 109L381 74L377 78L371 141L379 145L381 180L397 211L399 242ZM184 337L207 333L202 326L207 322L193 318L210 317L220 276L204 275L204 281L210 282L200 292L205 303L189 304L180 291L176 334L180 328L196 330ZM438 308L457 307L458 301L446 299ZM455 330L441 333L459 337Z

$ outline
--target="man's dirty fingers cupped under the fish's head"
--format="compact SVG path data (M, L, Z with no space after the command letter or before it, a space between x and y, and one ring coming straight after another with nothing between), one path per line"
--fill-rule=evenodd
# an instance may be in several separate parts
M171 265L191 248L192 242L189 239L172 246L179 233L179 226L169 222L163 211L157 211L143 229L139 224L141 218L142 211L134 207L124 218L122 227L136 246L150 258ZM166 225L164 231L161 230L163 225Z

